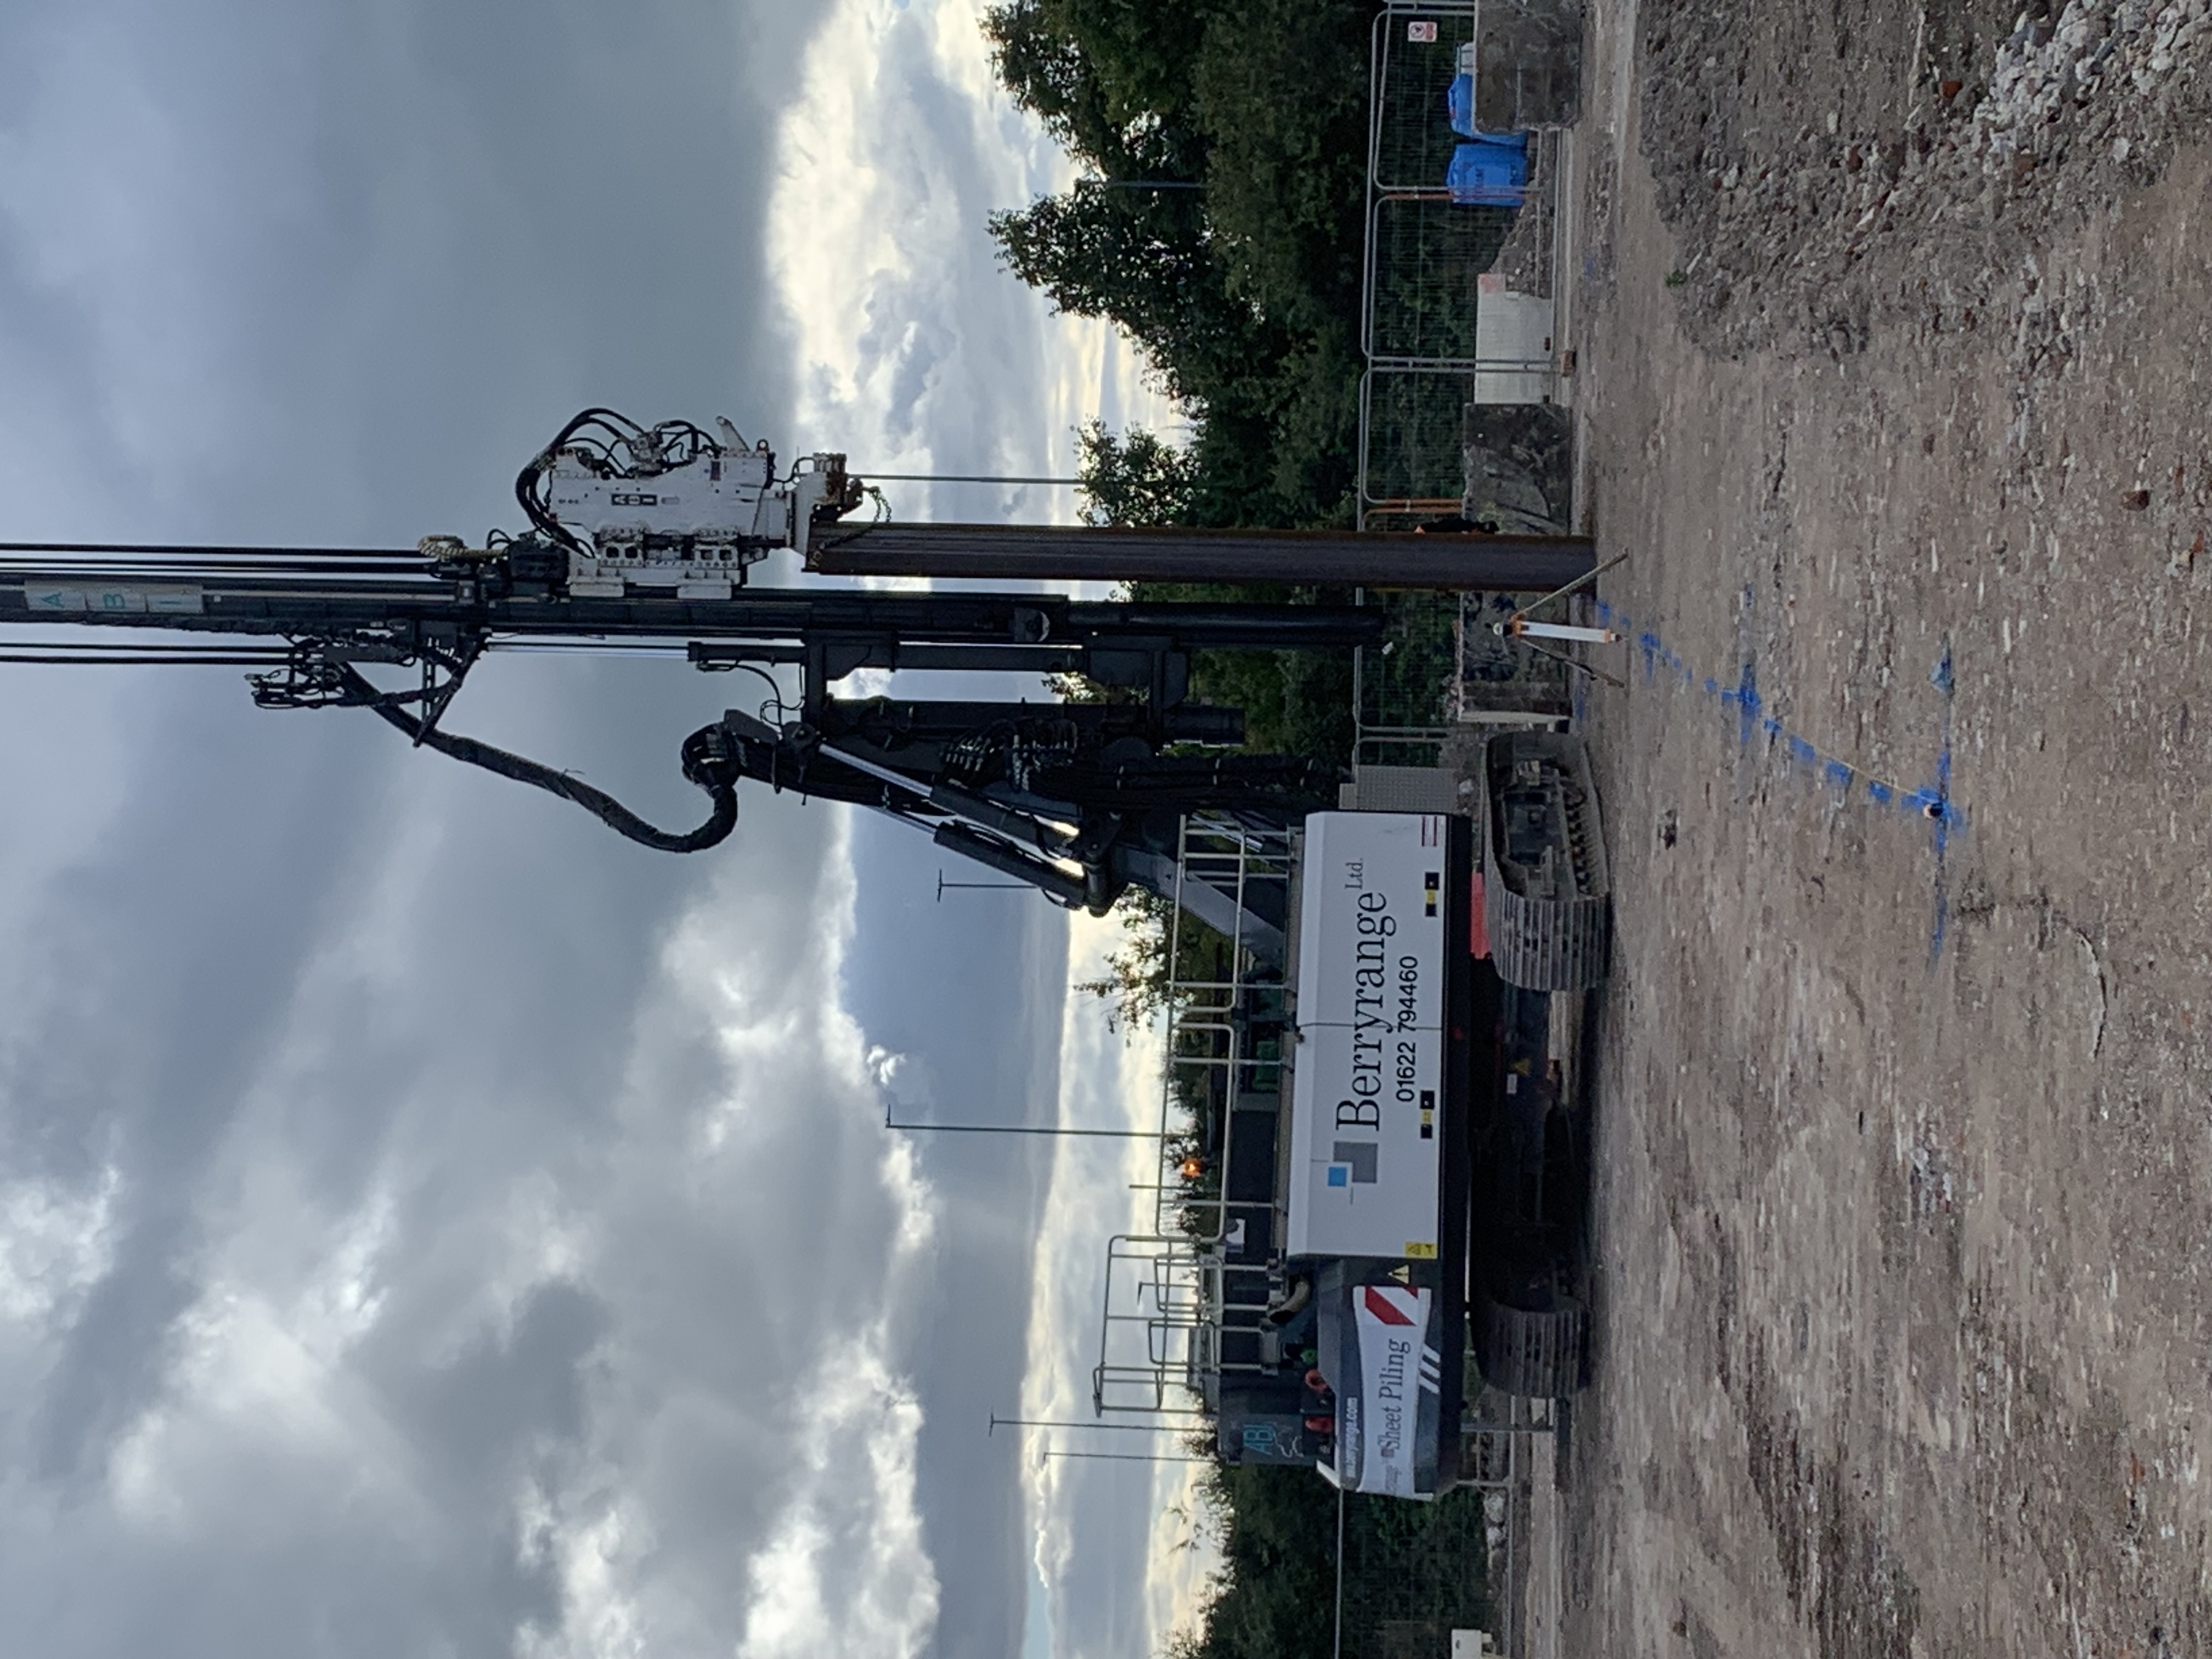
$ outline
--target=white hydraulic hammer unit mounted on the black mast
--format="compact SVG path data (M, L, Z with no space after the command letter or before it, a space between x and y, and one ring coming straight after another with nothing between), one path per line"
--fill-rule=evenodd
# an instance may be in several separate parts
M807 456L776 478L765 442L748 445L728 420L723 442L655 471L611 476L584 449L560 449L544 467L544 504L577 546L568 593L619 599L633 588L675 588L679 599L728 599L745 566L790 546L805 555L814 507L843 478L843 456Z

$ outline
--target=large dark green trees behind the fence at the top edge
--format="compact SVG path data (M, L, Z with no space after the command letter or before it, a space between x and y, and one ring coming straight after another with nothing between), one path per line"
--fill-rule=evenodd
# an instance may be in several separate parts
M1369 18L1347 0L1006 0L984 20L1015 102L1095 175L991 234L1060 310L1119 323L1183 405L1181 522L1352 515ZM1148 181L1203 188L1128 188Z

